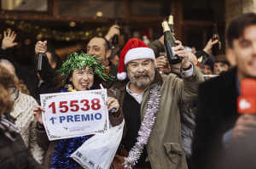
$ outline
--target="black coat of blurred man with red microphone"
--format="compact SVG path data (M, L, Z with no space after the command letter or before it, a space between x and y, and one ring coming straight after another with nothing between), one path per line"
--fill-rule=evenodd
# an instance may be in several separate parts
M192 144L192 165L196 169L216 168L223 149L222 137L234 127L238 96L236 68L210 79L199 87L198 115Z

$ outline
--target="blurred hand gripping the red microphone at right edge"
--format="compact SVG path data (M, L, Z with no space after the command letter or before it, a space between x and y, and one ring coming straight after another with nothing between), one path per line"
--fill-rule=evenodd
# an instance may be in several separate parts
M233 130L232 138L244 138L256 132L256 115L241 115Z

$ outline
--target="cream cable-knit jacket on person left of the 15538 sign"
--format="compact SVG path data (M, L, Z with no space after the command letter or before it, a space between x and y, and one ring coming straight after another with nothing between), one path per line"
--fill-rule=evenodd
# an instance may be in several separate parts
M43 163L44 151L38 146L36 135L36 121L33 116L33 108L38 105L37 101L32 96L24 93L19 93L18 99L15 100L14 110L10 115L15 117L15 125L20 130L21 138L23 139L27 149L39 164Z

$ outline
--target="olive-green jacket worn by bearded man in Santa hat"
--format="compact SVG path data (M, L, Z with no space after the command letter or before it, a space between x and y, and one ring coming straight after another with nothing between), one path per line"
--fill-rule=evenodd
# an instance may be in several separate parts
M196 99L198 84L203 81L204 78L200 70L195 66L193 75L183 80L173 74L161 77L156 71L154 82L150 87L156 83L161 84L160 110L156 113L156 121L146 146L152 169L188 168L182 145L178 104ZM143 95L142 121L147 110L150 87L145 90ZM125 87L119 89L115 88L115 93L122 98L119 100L124 100ZM120 103L120 105L122 104Z

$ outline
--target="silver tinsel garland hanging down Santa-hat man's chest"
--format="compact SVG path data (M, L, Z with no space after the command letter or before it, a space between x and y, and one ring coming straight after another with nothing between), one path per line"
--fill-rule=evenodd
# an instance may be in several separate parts
M143 117L142 125L138 131L137 143L129 151L125 158L125 169L132 169L137 164L140 156L143 154L143 148L148 144L148 139L155 122L155 113L160 106L160 85L152 87L149 91L146 114Z

